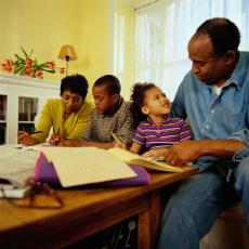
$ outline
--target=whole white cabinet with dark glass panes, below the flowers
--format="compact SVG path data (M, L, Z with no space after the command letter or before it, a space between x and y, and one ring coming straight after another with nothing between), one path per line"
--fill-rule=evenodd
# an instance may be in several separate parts
M60 97L61 83L0 73L0 144L16 144L18 130L34 129L48 99Z

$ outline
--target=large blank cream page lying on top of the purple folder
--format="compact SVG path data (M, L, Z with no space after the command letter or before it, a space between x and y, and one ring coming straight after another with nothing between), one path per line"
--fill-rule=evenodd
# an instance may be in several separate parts
M121 159L95 147L43 147L62 186L77 186L134 178L136 173Z

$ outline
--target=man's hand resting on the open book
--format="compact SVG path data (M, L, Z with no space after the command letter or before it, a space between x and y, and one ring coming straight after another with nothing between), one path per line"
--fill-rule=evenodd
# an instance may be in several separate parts
M172 166L184 166L196 160L200 155L198 141L191 140L173 144L165 153L166 161Z

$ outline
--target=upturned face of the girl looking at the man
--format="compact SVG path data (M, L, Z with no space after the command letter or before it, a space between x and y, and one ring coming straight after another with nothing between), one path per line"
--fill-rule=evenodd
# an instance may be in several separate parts
M143 114L154 117L166 116L170 113L170 101L159 88L150 88L144 94Z

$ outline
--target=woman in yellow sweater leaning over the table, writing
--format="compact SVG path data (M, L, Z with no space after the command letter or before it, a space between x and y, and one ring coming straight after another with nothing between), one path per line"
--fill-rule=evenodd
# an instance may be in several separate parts
M21 132L18 143L35 145L43 143L49 136L51 127L55 136L64 139L80 139L88 121L90 120L93 104L86 102L88 81L81 75L67 76L62 79L61 96L58 100L48 100L45 103L36 131L37 134Z

